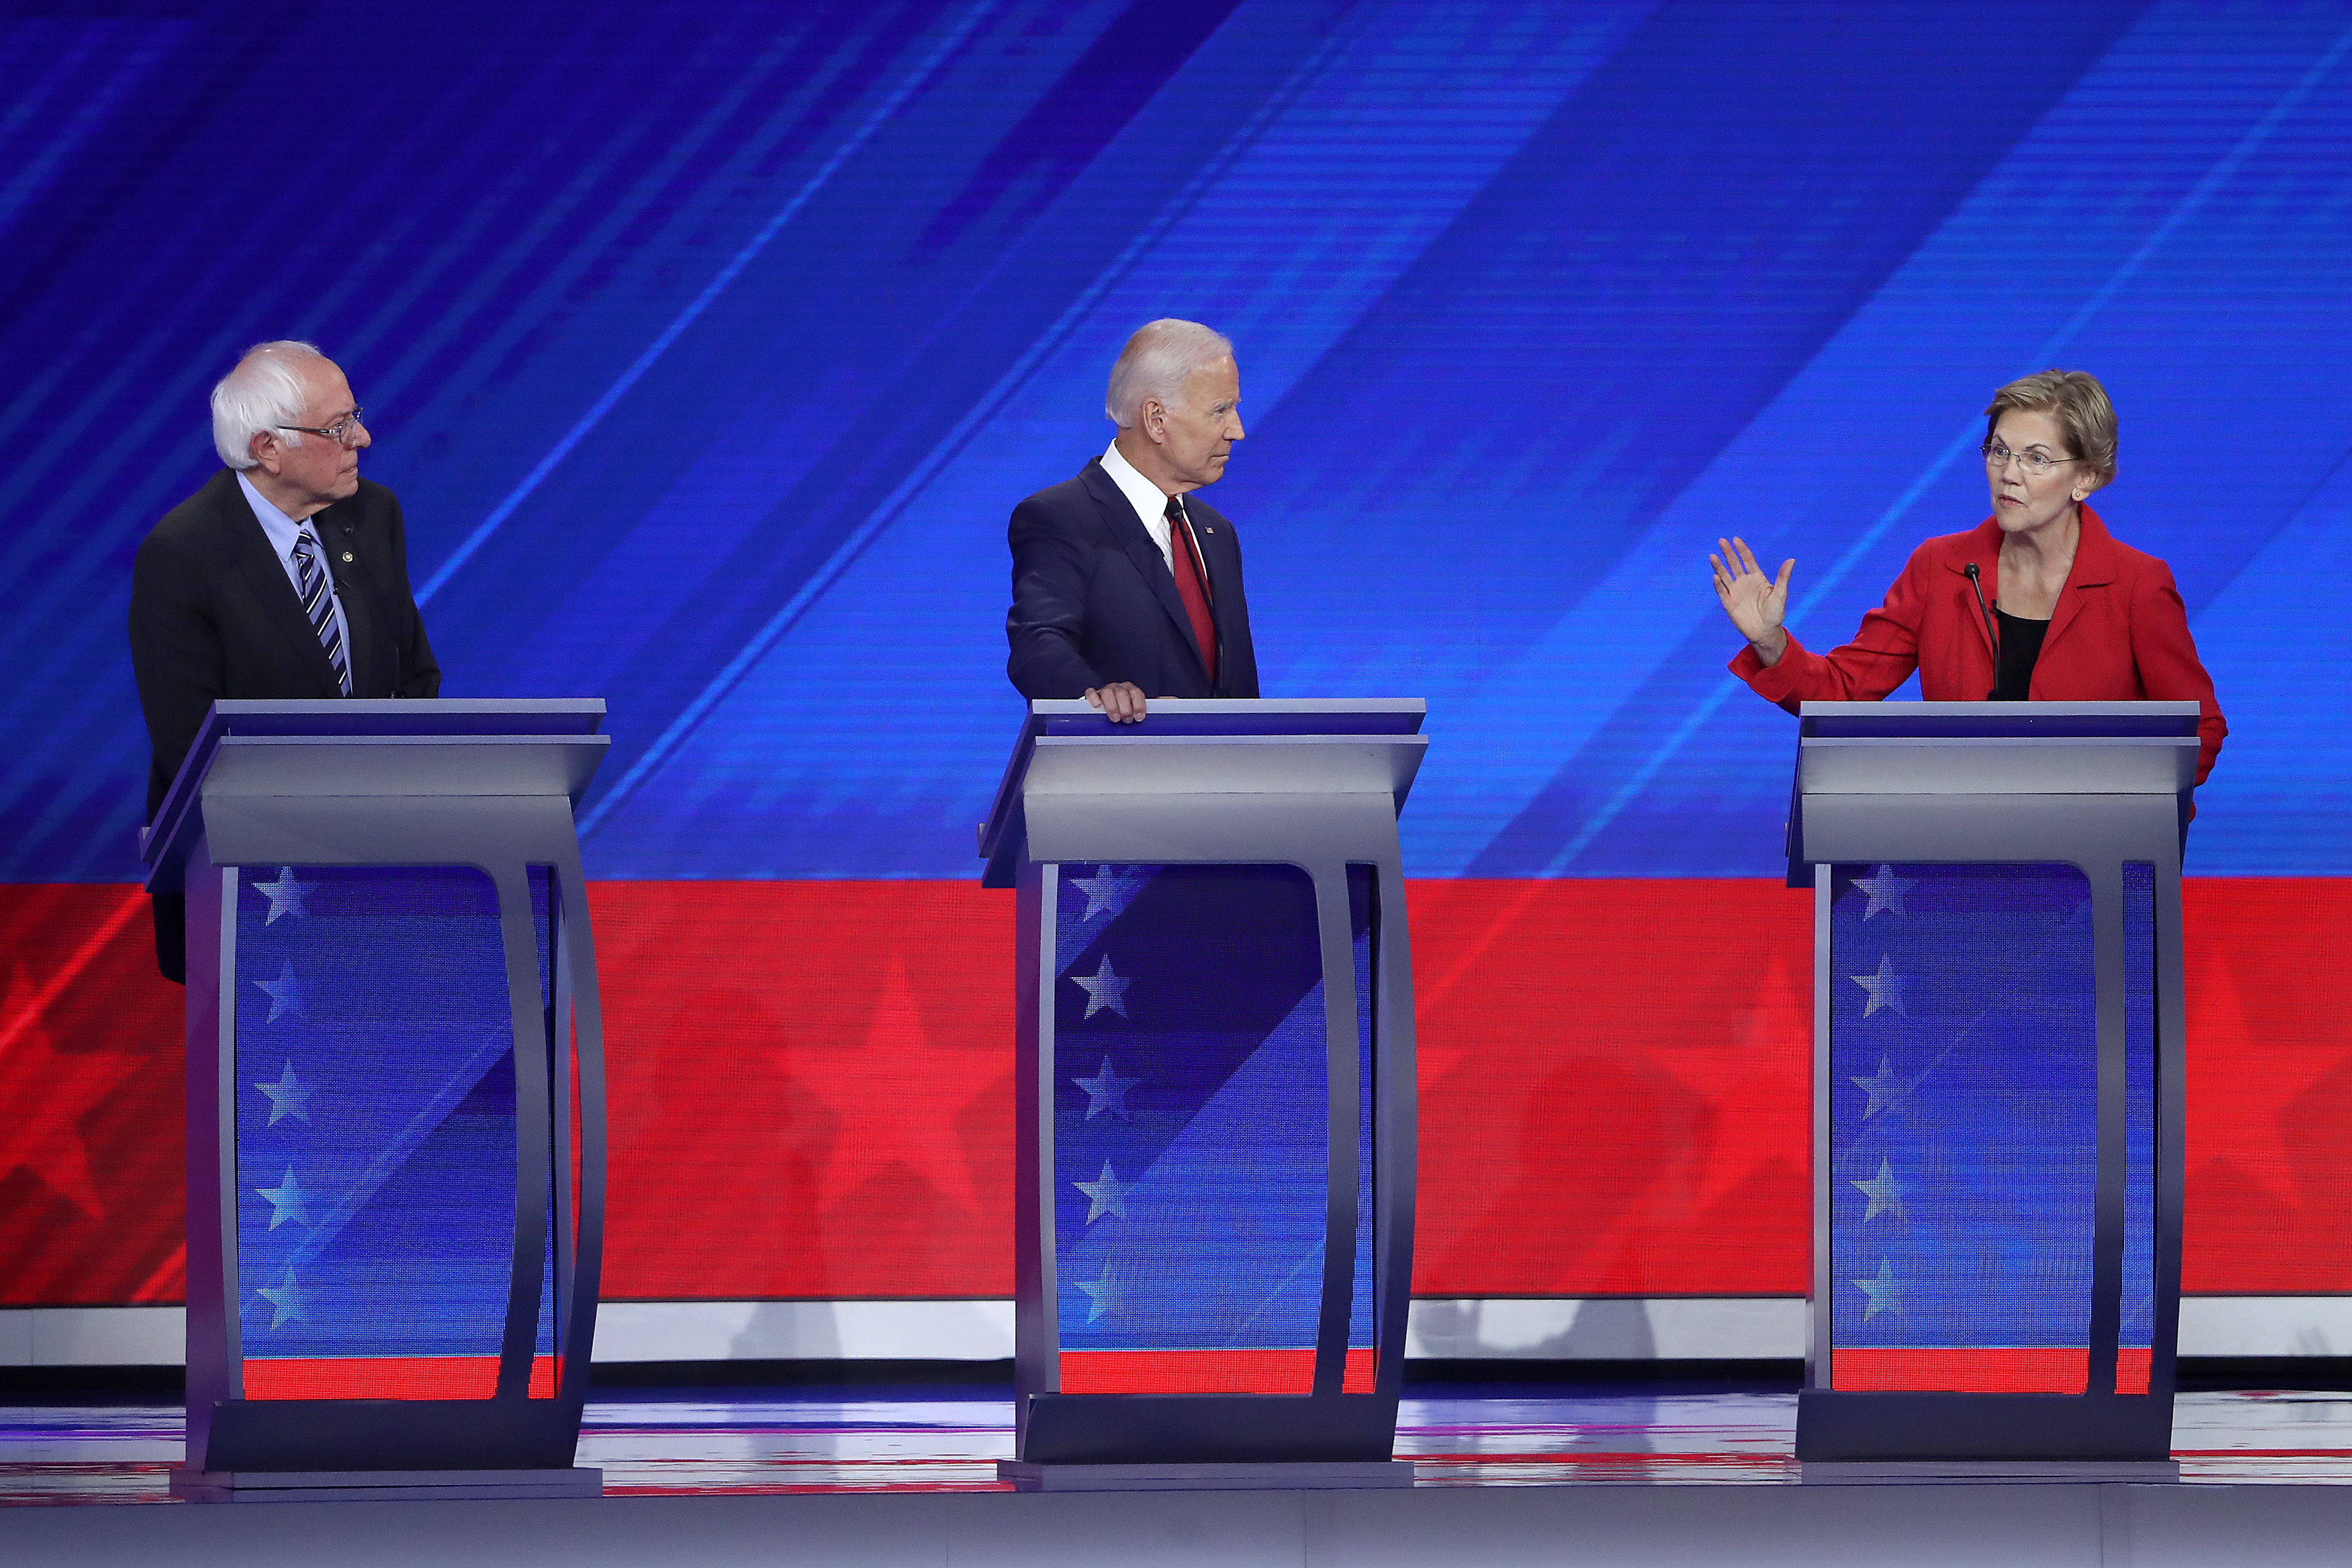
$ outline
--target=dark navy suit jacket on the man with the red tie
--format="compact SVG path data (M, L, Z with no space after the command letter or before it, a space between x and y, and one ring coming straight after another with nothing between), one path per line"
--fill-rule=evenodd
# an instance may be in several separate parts
M1028 698L1075 698L1134 682L1143 696L1258 696L1258 654L1242 595L1242 541L1200 491L1185 496L1209 567L1216 686L1192 642L1167 557L1103 461L1014 508L1014 607L1004 672Z

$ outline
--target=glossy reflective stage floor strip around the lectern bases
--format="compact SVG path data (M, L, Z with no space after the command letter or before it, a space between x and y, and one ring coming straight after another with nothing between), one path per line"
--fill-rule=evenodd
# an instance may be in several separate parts
M1806 1486L1795 1422L1790 1392L1425 1389L1397 1458L1418 1488ZM1011 1453L997 1389L691 1389L590 1401L579 1462L607 1497L988 1493ZM2352 1394L2183 1394L2173 1453L2183 1486L2345 1486ZM0 1505L167 1505L179 1462L179 1406L0 1406Z

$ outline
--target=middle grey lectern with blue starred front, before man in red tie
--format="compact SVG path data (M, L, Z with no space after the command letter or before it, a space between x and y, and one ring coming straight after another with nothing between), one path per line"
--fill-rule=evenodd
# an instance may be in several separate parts
M1018 889L1016 1483L1392 1483L1414 1248L1397 811L1421 701L1033 703Z

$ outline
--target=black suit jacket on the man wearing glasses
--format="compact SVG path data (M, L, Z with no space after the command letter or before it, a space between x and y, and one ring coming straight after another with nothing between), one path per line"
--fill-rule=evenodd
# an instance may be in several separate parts
M409 543L393 491L360 491L310 520L343 604L353 696L440 696L440 665L409 592ZM169 512L132 564L132 675L146 710L148 816L219 698L341 696L268 534L221 470ZM179 900L155 900L155 957L183 976Z

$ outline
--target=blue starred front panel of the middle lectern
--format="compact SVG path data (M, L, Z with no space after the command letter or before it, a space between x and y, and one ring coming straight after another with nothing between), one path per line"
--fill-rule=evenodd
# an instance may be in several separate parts
M1329 1192L1312 882L1068 865L1054 952L1063 1392L1310 1392Z

